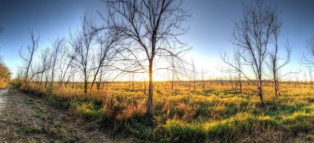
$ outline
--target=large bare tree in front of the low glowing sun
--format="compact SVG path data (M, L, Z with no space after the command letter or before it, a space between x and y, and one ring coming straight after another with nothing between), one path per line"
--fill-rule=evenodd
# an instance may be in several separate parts
M105 0L104 0L105 1ZM107 0L109 18L103 19L110 29L120 32L130 47L120 55L127 59L123 71L148 72L147 115L153 114L153 72L159 60L181 62L186 44L178 39L188 31L183 22L191 19L189 10L181 8L182 0ZM131 66L140 67L131 71ZM153 68L156 68L155 70Z

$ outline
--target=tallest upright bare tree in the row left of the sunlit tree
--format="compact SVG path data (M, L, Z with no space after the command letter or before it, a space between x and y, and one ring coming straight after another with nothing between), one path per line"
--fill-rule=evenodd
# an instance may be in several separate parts
M88 64L90 63L91 46L97 34L97 31L93 29L95 27L95 17L88 17L84 13L81 17L81 28L74 34L70 32L70 43L73 48L73 55L75 55L74 63L83 75L85 96L87 96L87 82L90 72Z

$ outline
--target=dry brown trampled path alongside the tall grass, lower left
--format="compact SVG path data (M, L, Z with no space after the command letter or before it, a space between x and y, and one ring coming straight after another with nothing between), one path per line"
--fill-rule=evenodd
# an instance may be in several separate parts
M0 95L0 143L108 143L110 134L98 131L78 114L56 109L42 98L13 87Z

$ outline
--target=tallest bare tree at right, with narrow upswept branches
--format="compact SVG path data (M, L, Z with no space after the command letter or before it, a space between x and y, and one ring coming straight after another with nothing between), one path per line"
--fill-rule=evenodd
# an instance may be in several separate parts
M281 11L277 5L268 4L265 0L256 0L252 3L243 3L243 17L234 20L235 28L231 42L241 49L244 63L251 66L255 78L257 93L260 103L263 102L262 95L262 68L268 55L268 44L271 42L274 21L279 18ZM243 76L250 80L243 72Z

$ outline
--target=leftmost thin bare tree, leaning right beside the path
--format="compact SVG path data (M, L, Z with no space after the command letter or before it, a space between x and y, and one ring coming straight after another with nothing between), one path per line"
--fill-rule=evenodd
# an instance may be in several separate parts
M22 62L24 65L18 66L18 67L26 70L24 84L27 83L28 72L31 68L32 60L38 48L38 41L40 38L40 36L34 37L33 29L28 29L28 31L31 35L31 44L28 43L28 46L26 47L28 53L23 52L23 46L21 47L19 51L20 57L22 57Z

